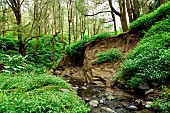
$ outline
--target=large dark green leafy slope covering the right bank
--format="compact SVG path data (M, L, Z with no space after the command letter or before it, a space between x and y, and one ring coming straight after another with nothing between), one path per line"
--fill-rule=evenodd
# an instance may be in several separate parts
M159 87L167 84L170 79L170 17L164 10L170 9L170 2L162 5L156 11L155 16L166 15L168 18L155 23L145 34L144 38L138 43L137 47L130 51L122 65L120 74L131 88L137 88L140 83L147 83L151 87ZM150 16L151 14L145 15ZM139 25L148 27L148 21L141 21ZM136 22L139 22L137 20Z

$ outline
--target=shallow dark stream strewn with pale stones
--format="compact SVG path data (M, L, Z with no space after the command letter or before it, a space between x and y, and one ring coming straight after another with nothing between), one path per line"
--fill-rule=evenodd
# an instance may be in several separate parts
M68 79L67 79L68 80ZM69 79L73 89L91 106L89 113L160 113L152 109L152 101L140 99L124 89L88 85L80 80Z

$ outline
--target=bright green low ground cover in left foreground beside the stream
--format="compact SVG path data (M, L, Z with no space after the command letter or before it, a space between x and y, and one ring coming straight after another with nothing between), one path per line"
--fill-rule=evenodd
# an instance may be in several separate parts
M62 92L60 89L68 89ZM89 107L63 79L43 74L0 74L1 113L87 113Z

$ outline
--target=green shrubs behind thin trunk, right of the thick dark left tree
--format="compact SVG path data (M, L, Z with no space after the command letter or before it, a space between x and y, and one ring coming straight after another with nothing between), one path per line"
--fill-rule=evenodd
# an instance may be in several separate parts
M55 38L55 56L56 60L60 59L63 52L63 46L58 41L57 38ZM27 63L34 65L41 65L41 66L52 66L52 35L47 35L39 38L37 41L36 39L33 39L28 44L28 47L26 49L27 57Z

